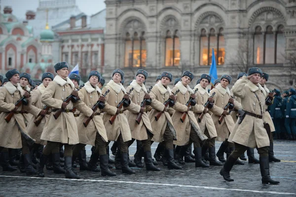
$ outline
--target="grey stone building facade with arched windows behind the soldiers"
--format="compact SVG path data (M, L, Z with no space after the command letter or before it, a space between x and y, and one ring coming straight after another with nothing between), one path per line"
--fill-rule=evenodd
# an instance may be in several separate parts
M258 66L271 87L295 84L296 0L105 2L106 78L115 68L131 79L145 68L152 82L163 71L200 76L209 73L214 51L218 76Z

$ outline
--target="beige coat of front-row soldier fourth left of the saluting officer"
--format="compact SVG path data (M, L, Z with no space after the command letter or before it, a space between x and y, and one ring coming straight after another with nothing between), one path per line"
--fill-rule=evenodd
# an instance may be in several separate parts
M158 81L158 83L156 83L153 86L149 94L152 101L151 107L153 108L148 114L151 122L151 127L154 132L152 141L154 142L163 141L163 134L167 124L170 128L170 131L173 133L174 140L177 140L177 133L173 126L172 118L168 112L168 110L170 109L169 106L165 109L164 113L162 113L162 115L157 121L154 118L158 112L162 112L164 110L165 106L163 105L163 103L167 101L169 99L169 96L172 94L171 89L169 87L165 88L161 84L161 81Z

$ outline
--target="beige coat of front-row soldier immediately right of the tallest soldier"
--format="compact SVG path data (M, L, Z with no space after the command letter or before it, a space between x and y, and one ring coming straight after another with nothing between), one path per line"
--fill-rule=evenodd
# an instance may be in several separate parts
M79 90L78 94L81 102L77 106L77 109L83 112L76 118L79 143L95 146L97 132L105 142L108 142L106 129L101 116L94 116L87 127L83 125L84 120L92 115L93 111L91 108L98 102L99 97L102 95L101 89L98 86L96 88L92 87L90 82L87 81L84 87ZM100 112L100 109L98 108L96 112Z

